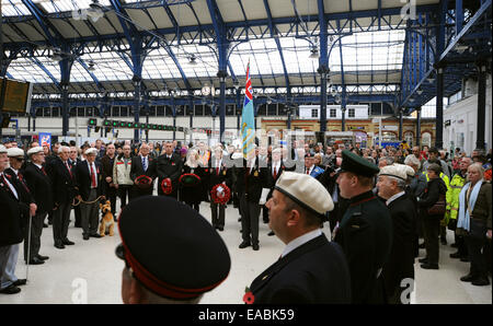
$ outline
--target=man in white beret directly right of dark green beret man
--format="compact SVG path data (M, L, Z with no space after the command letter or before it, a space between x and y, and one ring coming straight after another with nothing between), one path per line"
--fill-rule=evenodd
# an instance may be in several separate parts
M380 168L377 183L378 196L386 200L392 218L392 248L382 270L387 300L391 304L404 303L406 299L401 295L410 284L401 282L414 281L414 230L417 212L405 193L406 181L406 165L393 164Z

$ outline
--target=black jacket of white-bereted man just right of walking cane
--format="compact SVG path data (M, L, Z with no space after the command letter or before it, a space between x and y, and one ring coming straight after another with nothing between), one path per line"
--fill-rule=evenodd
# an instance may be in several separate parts
M36 213L49 212L53 209L53 186L47 174L34 163L27 164L24 178L36 202Z

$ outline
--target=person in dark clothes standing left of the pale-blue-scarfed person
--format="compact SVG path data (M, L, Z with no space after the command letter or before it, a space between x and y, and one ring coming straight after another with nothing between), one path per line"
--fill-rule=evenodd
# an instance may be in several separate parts
M440 220L444 219L445 214L447 186L440 178L440 165L432 163L427 172L429 181L423 195L417 200L426 247L426 257L420 259L420 263L423 263L421 267L424 269L438 269L438 236Z

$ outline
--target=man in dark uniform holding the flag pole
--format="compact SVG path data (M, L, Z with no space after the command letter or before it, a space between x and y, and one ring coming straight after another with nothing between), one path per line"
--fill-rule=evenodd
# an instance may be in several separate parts
M262 189L267 187L267 168L260 167L255 151L250 152L248 160L243 160L243 167L239 168L237 189L240 195L241 236L243 242L240 249L252 246L259 251L259 205Z

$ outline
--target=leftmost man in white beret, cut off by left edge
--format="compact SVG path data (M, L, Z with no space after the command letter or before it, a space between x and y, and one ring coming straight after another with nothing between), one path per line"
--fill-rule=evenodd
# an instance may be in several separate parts
M3 173L8 164L7 149L0 144L0 276L8 268L12 245L16 245L23 240L21 206L19 203L20 195L9 181L9 177ZM2 288L2 284L0 284L0 293L2 294L15 294L19 292L21 292L21 289L13 283L7 288Z

